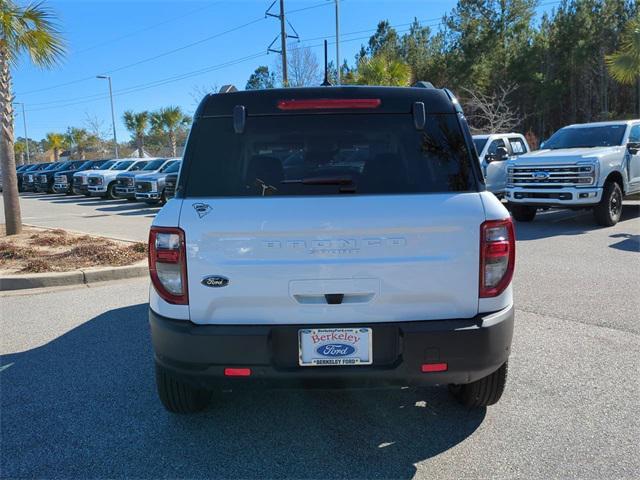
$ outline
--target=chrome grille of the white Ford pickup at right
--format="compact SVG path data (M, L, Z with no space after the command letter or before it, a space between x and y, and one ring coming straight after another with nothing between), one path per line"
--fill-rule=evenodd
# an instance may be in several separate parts
M558 188L589 186L596 181L594 165L566 165L560 167L518 167L507 170L510 187Z

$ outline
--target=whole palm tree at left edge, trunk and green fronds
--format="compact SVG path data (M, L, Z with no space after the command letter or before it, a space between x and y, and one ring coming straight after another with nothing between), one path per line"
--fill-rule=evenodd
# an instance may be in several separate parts
M54 66L64 53L54 15L43 2L18 6L0 0L0 163L5 172L3 200L7 235L22 230L16 158L13 151L13 86L11 68L26 55L36 66Z

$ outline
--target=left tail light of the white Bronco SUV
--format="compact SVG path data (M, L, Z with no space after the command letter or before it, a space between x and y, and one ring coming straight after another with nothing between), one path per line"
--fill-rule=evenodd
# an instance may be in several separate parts
M189 304L187 257L184 232L181 229L151 227L149 274L160 297L176 305Z

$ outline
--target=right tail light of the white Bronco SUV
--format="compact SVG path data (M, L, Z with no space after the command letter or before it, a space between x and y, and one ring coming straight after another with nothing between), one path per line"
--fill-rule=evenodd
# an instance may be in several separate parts
M480 226L480 298L497 297L509 286L516 260L513 221L489 220Z

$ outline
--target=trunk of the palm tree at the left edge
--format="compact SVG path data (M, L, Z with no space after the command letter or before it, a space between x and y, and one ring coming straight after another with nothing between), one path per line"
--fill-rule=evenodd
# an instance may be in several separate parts
M20 196L16 158L13 150L13 94L11 92L11 72L9 55L0 47L0 164L2 165L2 199L7 235L22 231Z

